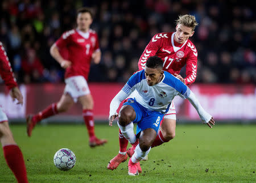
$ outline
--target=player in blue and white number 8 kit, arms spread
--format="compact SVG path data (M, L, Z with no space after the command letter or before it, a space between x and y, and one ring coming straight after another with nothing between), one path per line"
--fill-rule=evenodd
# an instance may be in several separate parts
M127 100L118 115L119 104L134 90L138 91L138 95ZM175 76L163 71L163 61L156 56L148 58L145 69L132 75L111 101L109 125L112 126L114 118L118 116L119 129L135 151L128 163L129 175L135 176L142 171L139 161L150 151L151 144L158 133L160 121L168 112L171 101L176 95L188 99L201 120L209 127L214 125L213 117L201 107L195 94ZM139 140L134 134L133 123L137 123L141 129Z

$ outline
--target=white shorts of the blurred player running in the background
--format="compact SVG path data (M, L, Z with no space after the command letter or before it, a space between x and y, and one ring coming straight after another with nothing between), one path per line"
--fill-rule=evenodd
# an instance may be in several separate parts
M69 77L65 79L65 83L64 93L69 93L75 103L78 97L90 94L88 84L83 76Z

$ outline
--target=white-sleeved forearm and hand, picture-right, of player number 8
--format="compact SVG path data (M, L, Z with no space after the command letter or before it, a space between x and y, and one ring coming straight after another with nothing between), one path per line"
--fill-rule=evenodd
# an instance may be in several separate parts
M188 96L187 99L196 109L203 123L204 124L206 123L210 128L212 128L212 125L215 125L215 121L213 120L213 117L204 110L204 108L201 106L201 104L197 100L196 95L192 91L190 91L190 95Z

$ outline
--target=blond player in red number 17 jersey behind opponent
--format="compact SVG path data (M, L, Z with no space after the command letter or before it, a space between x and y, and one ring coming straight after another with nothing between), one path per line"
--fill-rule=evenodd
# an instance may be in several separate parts
M193 36L197 25L195 16L183 15L176 20L176 32L157 33L144 49L139 58L139 70L144 69L146 61L151 56L158 56L163 59L163 70L175 75L184 84L189 85L196 80L197 71L197 50L195 45L188 40ZM186 65L186 77L179 75L180 70ZM152 144L152 147L159 146L175 137L176 110L172 101L170 110L164 116L160 130ZM127 154L133 155L133 148L129 148L126 154L128 141L123 138L119 131L119 154L110 160L108 169L115 169L127 159Z

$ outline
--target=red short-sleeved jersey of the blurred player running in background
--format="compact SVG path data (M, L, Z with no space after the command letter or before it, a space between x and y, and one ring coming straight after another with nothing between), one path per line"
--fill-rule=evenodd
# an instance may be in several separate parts
M65 59L72 62L65 71L65 78L81 75L88 79L90 61L95 50L100 49L97 33L89 29L83 33L76 29L64 32L56 41L56 45ZM62 55L63 55L62 54Z

